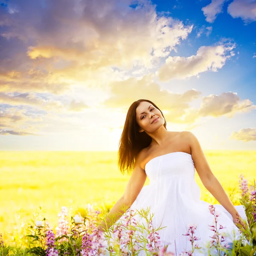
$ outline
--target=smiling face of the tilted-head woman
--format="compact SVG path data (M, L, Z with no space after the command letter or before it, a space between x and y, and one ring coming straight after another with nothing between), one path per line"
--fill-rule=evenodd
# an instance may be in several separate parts
M155 118L157 120L152 123ZM155 131L164 124L162 113L150 102L140 102L136 109L136 120L138 125L146 131Z

